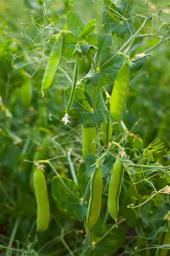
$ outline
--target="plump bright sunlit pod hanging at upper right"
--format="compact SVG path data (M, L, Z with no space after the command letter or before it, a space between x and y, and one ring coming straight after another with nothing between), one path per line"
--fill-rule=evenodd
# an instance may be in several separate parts
M117 123L119 123L122 118L129 85L129 76L129 65L127 62L124 62L115 79L110 102L110 113Z

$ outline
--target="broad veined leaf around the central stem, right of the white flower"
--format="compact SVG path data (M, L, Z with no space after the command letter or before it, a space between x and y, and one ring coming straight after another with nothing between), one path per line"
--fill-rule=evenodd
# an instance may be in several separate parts
M65 107L67 106L71 96L71 87L65 89L64 101ZM103 97L100 90L97 91L96 98L96 111L93 112L93 90L90 85L85 86L85 89L76 88L74 101L68 112L68 114L76 118L83 127L96 127L99 126L103 121L107 121L109 111L105 107Z

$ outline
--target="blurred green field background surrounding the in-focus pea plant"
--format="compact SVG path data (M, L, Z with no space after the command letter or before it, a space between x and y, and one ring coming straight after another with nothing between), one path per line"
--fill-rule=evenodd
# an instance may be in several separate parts
M143 1L135 1L137 12L145 13ZM83 226L74 223L60 209L50 197L51 212L53 215L49 229L38 238L36 232L36 201L30 184L30 173L33 163L24 162L24 159L33 161L38 159L53 158L52 163L61 176L69 177L69 163L63 156L63 151L72 147L72 157L76 162L81 158L81 125L73 120L70 129L61 122L64 116L63 90L70 86L69 81L60 70L53 81L52 87L41 94L41 81L46 60L35 44L42 43L41 37L34 40L38 30L33 24L23 25L42 16L42 2L39 0L1 0L0 3L0 233L1 243L7 246L10 237L16 227L15 238L20 241L21 247L26 251L30 246L32 253L39 250L39 254L69 255L63 246L60 228L66 233L66 242L71 248L76 248L75 255L79 255L84 235L81 233ZM53 1L48 17L56 21L55 25L60 29L66 29L66 12L78 12L85 21L95 18L97 20L96 33L105 33L101 26L101 10L99 3L91 0L58 0ZM169 10L167 1L150 1L149 13L154 13L161 22L168 20ZM40 23L43 23L43 18ZM148 25L150 26L150 25ZM29 28L27 28L29 27ZM38 25L37 25L38 27ZM38 27L39 28L39 27ZM122 40L122 41L121 41ZM113 50L117 50L124 39L114 39ZM143 40L137 53L150 48L158 42L155 37ZM29 53L28 53L29 52ZM50 48L46 46L45 52L49 55ZM27 54L28 53L28 54ZM13 61L13 54L16 59ZM155 156L155 160L162 165L168 165L170 160L168 148L170 141L170 87L169 87L169 43L163 42L157 48L149 52L142 69L131 75L129 91L127 95L127 114L123 121L127 128L137 122L133 133L143 139L143 147L146 148L155 138L160 139L164 147ZM21 57L19 57L21 55ZM19 57L19 58L18 58ZM65 68L65 62L62 62ZM73 66L71 66L73 67ZM68 67L66 67L68 69ZM90 61L86 58L81 61L80 74L82 76L90 69ZM21 96L21 86L25 80L32 85L32 102L25 109ZM112 86L106 86L109 93ZM52 120L48 115L53 114ZM50 181L53 173L47 167L47 186L50 191ZM69 232L70 230L71 232ZM31 234L31 237L28 237ZM51 241L46 249L43 245ZM32 244L30 244L32 243ZM5 250L4 250L5 251ZM4 253L2 250L2 253ZM28 250L29 251L29 250ZM54 253L53 253L54 252ZM52 254L53 253L53 254ZM77 253L77 254L76 254ZM1 254L3 255L3 254ZM14 254L15 255L15 254ZM32 255L36 255L32 254Z

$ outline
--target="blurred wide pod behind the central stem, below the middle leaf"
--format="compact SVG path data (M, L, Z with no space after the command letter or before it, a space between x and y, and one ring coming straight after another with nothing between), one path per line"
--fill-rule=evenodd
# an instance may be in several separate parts
M84 128L82 126L82 158L87 154L95 154L96 143L93 140L96 138L96 130L94 128Z

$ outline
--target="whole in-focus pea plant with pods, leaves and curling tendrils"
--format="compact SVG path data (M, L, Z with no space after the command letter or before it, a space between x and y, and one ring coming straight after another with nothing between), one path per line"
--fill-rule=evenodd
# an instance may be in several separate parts
M41 17L22 23L38 30L32 39L28 27L25 28L25 37L34 45L32 53L36 53L33 63L28 63L36 67L29 76L33 77L44 63L42 101L59 72L65 77L69 86L64 90L65 112L61 122L75 133L78 131L72 127L74 119L80 123L82 154L77 157L70 149L67 152L52 138L69 161L69 178L61 177L51 160L34 158L30 184L37 200L37 232L48 229L48 197L52 196L64 214L82 223L84 237L79 255L116 255L118 250L119 255L152 255L152 251L167 255L170 166L154 162L154 156L163 147L159 140L143 148L140 136L132 133L137 123L132 123L128 130L123 118L128 115L129 80L153 49L170 42L170 24L150 13L148 1L143 3L145 11L140 14L135 10L135 1L95 0L91 4L102 6L97 14L103 34L96 33L96 19L88 21L86 15L81 17L72 11L67 12L67 27L59 24L58 28L57 22L48 16L52 3L43 3ZM145 37L157 41L150 48L146 45L141 53ZM24 55L28 55L29 62L29 53ZM23 67L21 57L13 55L13 67ZM88 72L87 60L91 64ZM23 95L27 95L29 102L29 83L24 84ZM49 115L50 121L55 118L58 117L53 113ZM48 194L42 172L45 164L55 174ZM138 235L134 250L129 244L134 243L136 236L129 235L130 240L124 242L129 227ZM68 245L66 248L69 255L75 255L74 249Z

